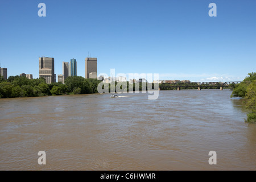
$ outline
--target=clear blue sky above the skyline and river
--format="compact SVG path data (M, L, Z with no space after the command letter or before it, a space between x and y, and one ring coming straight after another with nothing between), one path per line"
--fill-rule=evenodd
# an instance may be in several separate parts
M46 17L38 4L46 4ZM210 17L209 3L217 17ZM242 81L256 68L256 1L26 0L0 2L0 63L39 76L39 56L98 58L98 73L159 73L161 80ZM128 75L127 75L128 76Z

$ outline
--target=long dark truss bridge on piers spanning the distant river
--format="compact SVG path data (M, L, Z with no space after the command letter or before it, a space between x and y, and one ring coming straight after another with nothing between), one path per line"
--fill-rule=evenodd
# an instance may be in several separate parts
M224 88L233 89L236 84L240 84L241 81L226 81L226 82L189 82L189 83L163 83L159 84L159 90L166 90L167 88L181 90L183 89L194 89L197 90L201 89L220 89L223 90Z

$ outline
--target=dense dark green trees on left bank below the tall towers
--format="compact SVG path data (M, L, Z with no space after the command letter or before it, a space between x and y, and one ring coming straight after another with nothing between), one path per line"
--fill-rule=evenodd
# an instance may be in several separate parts
M44 78L28 79L26 76L10 76L7 80L0 77L0 98L52 96L61 94L98 93L101 81L72 76L65 79L65 84L55 82L47 84Z

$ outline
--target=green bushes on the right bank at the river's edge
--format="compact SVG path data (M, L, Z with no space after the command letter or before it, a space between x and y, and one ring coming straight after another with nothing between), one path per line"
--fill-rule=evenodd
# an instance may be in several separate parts
M247 114L246 123L256 123L256 72L248 73L240 84L235 85L230 97L241 97Z

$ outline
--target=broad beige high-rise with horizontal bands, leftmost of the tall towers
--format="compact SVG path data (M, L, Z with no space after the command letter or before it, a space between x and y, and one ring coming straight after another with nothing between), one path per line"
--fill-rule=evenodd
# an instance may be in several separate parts
M39 57L39 77L45 78L47 84L56 81L53 57Z

